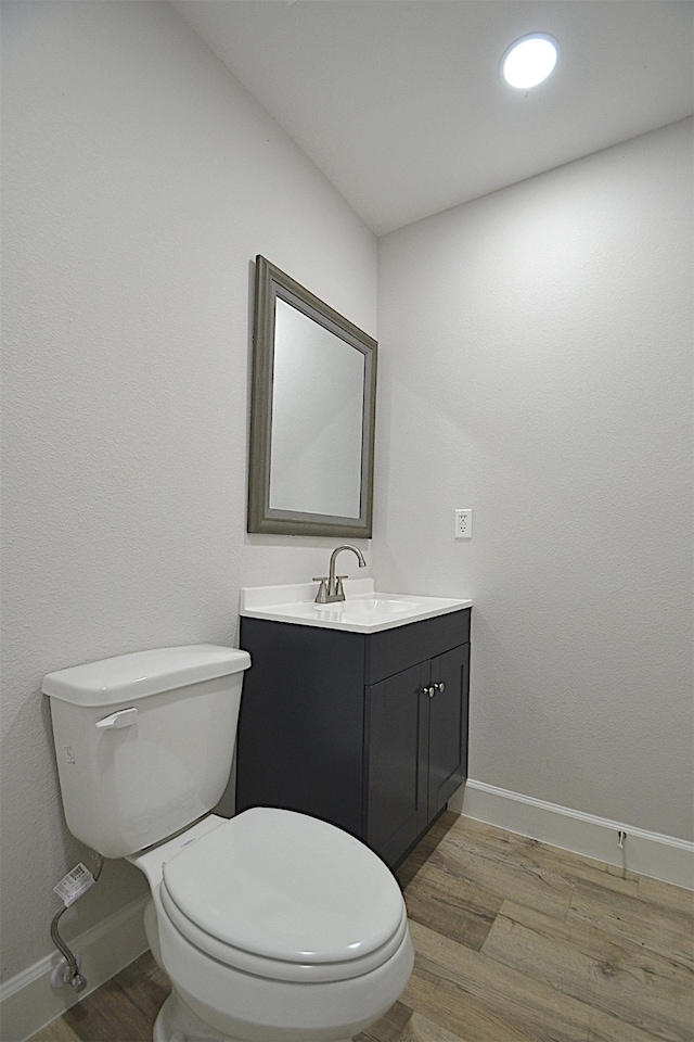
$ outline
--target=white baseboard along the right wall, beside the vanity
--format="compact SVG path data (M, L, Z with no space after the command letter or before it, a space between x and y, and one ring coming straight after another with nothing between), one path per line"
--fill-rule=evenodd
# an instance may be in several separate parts
M468 779L449 810L586 857L694 890L694 843ZM624 830L624 849L618 831Z

